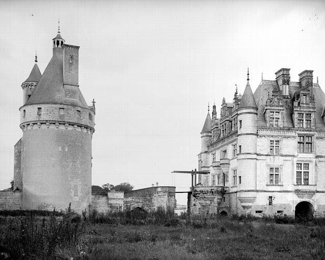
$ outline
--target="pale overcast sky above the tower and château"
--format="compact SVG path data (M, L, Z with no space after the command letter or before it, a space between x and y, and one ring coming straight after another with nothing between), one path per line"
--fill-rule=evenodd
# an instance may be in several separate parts
M217 114L246 86L290 68L325 82L323 1L1 1L0 189L13 179L22 136L21 83L51 39L80 46L79 88L96 101L92 184L189 190L208 103ZM186 193L176 199L186 203Z

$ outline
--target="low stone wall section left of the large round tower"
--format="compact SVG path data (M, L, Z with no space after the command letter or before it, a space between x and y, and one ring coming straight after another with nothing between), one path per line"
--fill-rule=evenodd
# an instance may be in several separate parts
M0 210L16 210L22 208L22 191L0 191Z

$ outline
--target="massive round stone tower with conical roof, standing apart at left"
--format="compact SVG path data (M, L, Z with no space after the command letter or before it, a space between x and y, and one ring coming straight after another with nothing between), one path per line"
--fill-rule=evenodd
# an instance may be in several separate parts
M65 209L71 202L80 213L91 201L95 102L88 106L79 90L79 47L65 44L60 27L52 43L43 75L35 64L21 85L14 185L23 191L24 209Z

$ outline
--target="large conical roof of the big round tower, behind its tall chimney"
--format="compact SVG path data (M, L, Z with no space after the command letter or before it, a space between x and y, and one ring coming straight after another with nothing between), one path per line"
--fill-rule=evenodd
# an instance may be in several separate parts
M63 85L63 50L53 53L41 79L30 99L25 105L32 104L63 104L89 109L83 94L76 87L78 99L66 99Z

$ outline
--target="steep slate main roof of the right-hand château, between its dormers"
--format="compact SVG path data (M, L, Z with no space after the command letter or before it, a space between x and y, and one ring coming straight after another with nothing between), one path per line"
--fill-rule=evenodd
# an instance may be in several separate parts
M266 126L266 121L264 117L264 109L265 109L265 103L268 97L268 93L270 96L272 96L273 88L278 88L278 83L276 80L262 80L257 87L257 89L254 92L254 98L256 101L256 105L258 107L257 111L257 126ZM292 113L293 113L293 104L292 104L292 98L294 96L294 93L299 91L301 88L300 82L290 82L289 85L289 95L290 100L283 100L284 105L284 111L283 111L283 126L284 127L294 127L293 121L292 121ZM325 101L325 94L319 87L317 83L313 83L313 94L315 96L315 106L316 106L316 128L324 128L324 123L322 121L321 115L323 113L324 109L324 101ZM241 102L240 102L241 104ZM240 106L240 105L239 105Z

